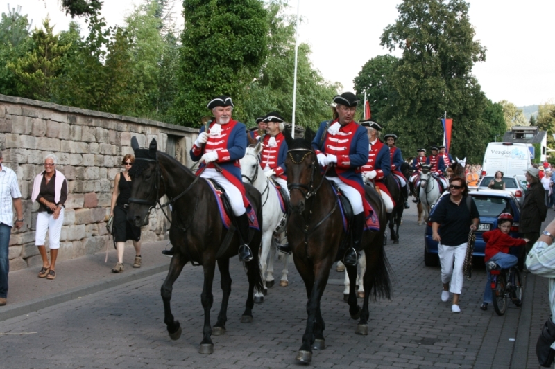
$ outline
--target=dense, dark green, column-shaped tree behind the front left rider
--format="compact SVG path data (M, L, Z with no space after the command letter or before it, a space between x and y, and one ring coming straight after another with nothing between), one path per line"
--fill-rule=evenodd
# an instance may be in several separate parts
M266 57L262 0L186 0L183 8L178 124L198 127L206 103L221 94L232 96L240 116L241 95Z

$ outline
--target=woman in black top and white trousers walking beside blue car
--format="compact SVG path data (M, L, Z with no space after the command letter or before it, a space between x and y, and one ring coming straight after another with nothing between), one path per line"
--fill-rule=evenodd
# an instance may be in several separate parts
M432 238L438 242L441 264L441 300L446 303L453 294L451 311L460 313L459 296L463 289L463 262L466 255L468 232L476 231L479 223L478 209L474 201L467 204L468 186L461 177L450 179L450 196L444 196L434 207Z

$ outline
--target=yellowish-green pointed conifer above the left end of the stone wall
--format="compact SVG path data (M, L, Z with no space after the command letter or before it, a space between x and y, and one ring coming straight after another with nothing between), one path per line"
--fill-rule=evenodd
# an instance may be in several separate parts
M24 98L49 100L51 88L62 69L62 56L71 44L60 44L59 35L53 34L50 19L44 19L42 28L35 28L31 39L33 48L7 67L17 78L17 93Z

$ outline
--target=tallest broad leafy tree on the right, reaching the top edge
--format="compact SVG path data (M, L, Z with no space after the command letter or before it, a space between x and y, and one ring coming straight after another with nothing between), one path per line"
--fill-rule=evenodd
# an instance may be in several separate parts
M474 40L475 30L463 0L404 0L395 24L384 29L381 44L402 50L391 76L393 101L385 132L400 134L399 145L416 152L438 145L444 111L453 118L451 152L479 162L485 150L482 118L486 98L472 66L484 61L486 49ZM384 122L382 122L384 123Z

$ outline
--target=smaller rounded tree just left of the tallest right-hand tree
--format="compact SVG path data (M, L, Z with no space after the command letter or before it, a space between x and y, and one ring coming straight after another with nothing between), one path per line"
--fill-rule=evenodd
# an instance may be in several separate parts
M359 75L355 77L355 91L359 98L364 97L370 102L370 109L373 120L378 122L385 120L383 112L393 101L393 88L391 87L391 76L399 59L393 55L378 55L364 66Z

